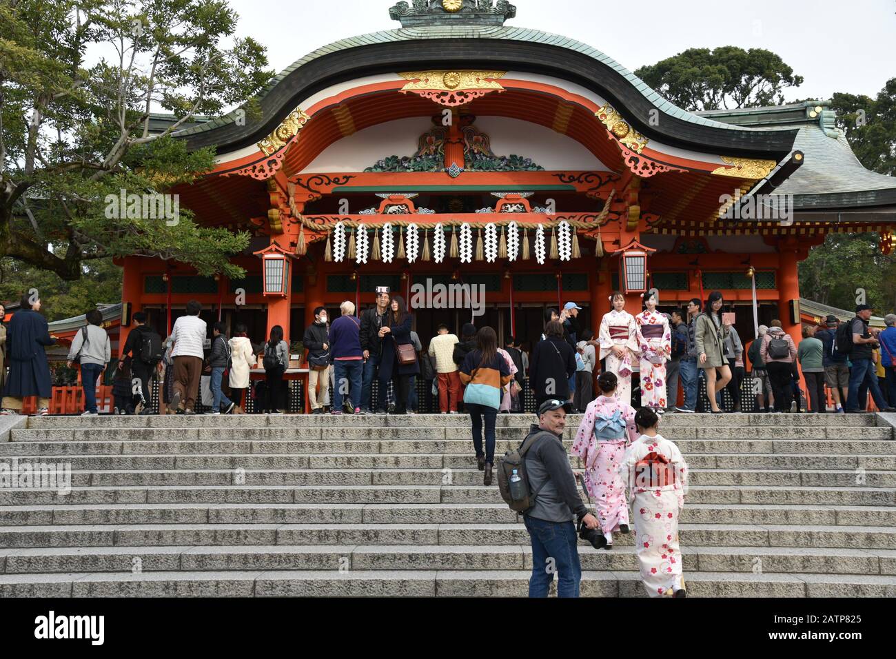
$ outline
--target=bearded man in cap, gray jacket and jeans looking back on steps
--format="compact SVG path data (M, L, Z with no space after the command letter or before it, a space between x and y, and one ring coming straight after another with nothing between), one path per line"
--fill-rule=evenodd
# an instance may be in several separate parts
M566 414L572 411L573 403L548 399L538 408L538 425L529 431L536 436L525 457L529 487L536 493L535 505L523 515L532 542L530 597L547 597L555 572L560 574L557 596L579 596L582 565L573 519L590 529L600 526L579 497L563 445Z

